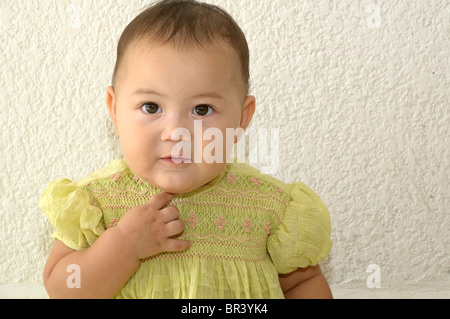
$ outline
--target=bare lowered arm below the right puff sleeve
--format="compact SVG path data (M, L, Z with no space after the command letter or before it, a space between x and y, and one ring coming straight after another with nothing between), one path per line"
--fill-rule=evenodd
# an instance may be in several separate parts
M332 299L330 287L320 266L298 268L290 274L279 276L286 299Z

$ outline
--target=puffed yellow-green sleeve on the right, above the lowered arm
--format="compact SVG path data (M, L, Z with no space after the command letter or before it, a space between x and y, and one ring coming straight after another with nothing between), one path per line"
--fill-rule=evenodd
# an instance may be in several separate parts
M282 223L268 238L268 252L280 274L315 266L331 251L331 221L319 196L303 183L290 187Z

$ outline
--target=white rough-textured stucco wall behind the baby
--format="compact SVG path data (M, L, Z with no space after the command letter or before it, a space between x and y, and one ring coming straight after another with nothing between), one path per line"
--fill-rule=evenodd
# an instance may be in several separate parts
M330 209L335 295L449 297L449 1L209 2L247 34L252 127L280 130L276 177ZM0 297L43 295L46 184L119 156L105 89L148 3L0 0Z

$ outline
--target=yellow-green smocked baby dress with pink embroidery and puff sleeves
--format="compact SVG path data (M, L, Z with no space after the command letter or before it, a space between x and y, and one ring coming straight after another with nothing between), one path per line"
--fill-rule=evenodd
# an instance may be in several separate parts
M40 207L53 238L80 250L160 192L118 159L76 183L51 182ZM143 259L116 298L284 298L278 274L316 265L331 250L320 198L303 183L285 184L246 164L227 164L169 205L185 223L178 238L191 248Z

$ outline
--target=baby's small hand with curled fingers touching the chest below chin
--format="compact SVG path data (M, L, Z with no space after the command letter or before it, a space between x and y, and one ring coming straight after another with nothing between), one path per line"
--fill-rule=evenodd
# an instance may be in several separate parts
M130 240L137 258L191 247L190 241L171 238L184 230L184 223L178 219L178 209L165 207L173 197L169 193L157 194L147 203L130 209L117 224L116 227Z

